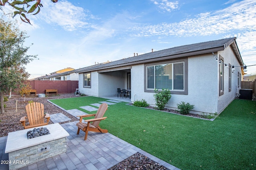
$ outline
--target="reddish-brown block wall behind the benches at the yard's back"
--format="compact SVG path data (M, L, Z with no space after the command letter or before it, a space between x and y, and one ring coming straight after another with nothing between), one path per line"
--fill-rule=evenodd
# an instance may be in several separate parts
M46 89L58 89L58 94L75 93L78 88L78 81L71 80L29 80L32 89L36 90L36 94L45 94ZM20 95L16 90L12 91L12 95Z

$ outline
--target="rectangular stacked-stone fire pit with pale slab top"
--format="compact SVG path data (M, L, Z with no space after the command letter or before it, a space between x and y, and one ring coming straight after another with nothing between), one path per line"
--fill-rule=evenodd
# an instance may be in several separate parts
M9 154L10 170L22 168L67 151L68 132L58 123L45 127L51 132L49 135L32 139L26 137L28 129L8 134L5 153Z

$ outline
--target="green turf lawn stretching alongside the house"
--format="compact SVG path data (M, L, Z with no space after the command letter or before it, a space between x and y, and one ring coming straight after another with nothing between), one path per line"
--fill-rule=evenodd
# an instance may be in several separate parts
M80 97L51 102L64 109L80 109L104 100ZM255 101L234 100L214 121L125 102L109 106L104 116L108 118L100 126L109 133L182 170L256 169Z

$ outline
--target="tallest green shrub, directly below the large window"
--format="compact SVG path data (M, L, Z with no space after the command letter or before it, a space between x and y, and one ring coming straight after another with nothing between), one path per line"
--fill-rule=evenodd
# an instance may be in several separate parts
M163 110L171 97L170 90L162 89L162 91L158 92L158 89L155 89L154 98L156 100L158 110Z

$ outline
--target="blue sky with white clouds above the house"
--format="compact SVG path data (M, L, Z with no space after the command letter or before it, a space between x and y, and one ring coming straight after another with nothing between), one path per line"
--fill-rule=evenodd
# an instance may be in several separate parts
M66 67L82 68L180 45L237 37L244 64L256 64L255 0L41 0L27 15L35 78ZM7 8L6 8L7 9ZM17 20L19 17L15 17ZM256 66L247 67L248 74Z

